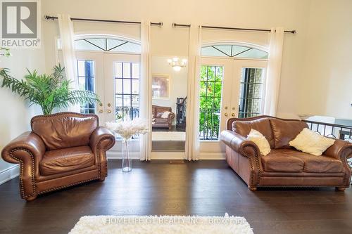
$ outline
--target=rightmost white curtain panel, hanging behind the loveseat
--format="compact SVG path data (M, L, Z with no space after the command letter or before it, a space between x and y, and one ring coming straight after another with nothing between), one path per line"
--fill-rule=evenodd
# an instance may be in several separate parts
M264 115L276 116L282 63L284 28L275 27L270 32L268 69L266 75Z

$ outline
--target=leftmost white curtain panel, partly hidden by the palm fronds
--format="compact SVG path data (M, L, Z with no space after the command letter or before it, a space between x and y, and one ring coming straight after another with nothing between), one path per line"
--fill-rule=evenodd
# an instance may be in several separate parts
M70 79L71 89L78 89L77 65L75 56L75 32L70 15L58 14L58 28L63 51L63 66L65 67L66 79ZM70 111L80 112L80 105L70 106Z

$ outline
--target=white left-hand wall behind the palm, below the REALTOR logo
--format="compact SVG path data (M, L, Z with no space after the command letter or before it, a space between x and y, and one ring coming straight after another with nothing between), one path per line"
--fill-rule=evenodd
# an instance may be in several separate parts
M9 58L0 57L0 67L10 69L11 76L22 79L29 70L44 71L44 50L43 49L13 49L13 56ZM1 81L2 82L2 81ZM11 92L10 89L0 88L0 151L13 138L30 129L30 118L41 114L38 108L29 108L27 102ZM0 183L6 179L11 167L0 159ZM6 175L5 175L6 174Z

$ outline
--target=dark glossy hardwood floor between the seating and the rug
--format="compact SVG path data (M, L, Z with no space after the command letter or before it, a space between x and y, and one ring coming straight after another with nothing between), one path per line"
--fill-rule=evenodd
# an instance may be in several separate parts
M0 186L0 233L68 233L84 215L244 216L254 233L352 233L352 190L261 189L251 192L225 161L134 161L108 178L20 199L18 178Z

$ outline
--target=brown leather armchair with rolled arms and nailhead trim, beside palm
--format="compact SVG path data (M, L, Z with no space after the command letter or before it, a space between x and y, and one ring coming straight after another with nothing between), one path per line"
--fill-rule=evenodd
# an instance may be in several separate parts
M99 126L96 115L41 115L32 118L31 127L1 152L6 162L20 164L23 199L106 178L106 150L113 147L115 137Z

